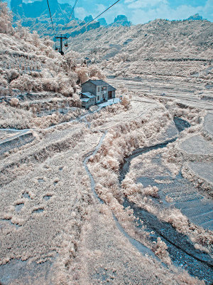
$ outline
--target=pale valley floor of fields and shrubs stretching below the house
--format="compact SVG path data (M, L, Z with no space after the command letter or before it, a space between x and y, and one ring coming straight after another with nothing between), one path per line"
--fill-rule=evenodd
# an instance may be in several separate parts
M109 83L131 90L129 108L30 129L0 152L1 284L211 284L212 91ZM176 117L190 128L178 133ZM164 142L119 181L125 157Z

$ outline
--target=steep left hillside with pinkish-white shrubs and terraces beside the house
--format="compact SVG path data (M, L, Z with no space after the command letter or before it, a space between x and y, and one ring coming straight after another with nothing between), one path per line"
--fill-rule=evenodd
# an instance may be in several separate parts
M84 58L76 52L61 56L50 38L40 38L20 25L13 28L6 4L0 4L1 127L47 126L82 113L75 109L81 105L80 84L89 77L104 78L102 73L95 66L84 66Z

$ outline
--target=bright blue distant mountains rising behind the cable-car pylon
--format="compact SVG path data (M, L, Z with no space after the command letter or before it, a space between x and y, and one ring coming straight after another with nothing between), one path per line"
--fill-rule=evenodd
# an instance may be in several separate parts
M51 0L49 4L56 33L65 32L67 36L75 37L100 26L131 26L131 22L125 15L117 16L111 24L107 24L104 18L89 24L93 20L92 15L86 16L82 21L75 18L75 13L72 13L70 4L60 4L58 0ZM26 26L32 31L38 31L41 36L53 36L53 27L51 26L46 0L33 1L28 4L24 3L23 0L11 0L11 10L15 23L21 20L22 26ZM71 13L72 17L70 18ZM84 27L85 24L89 25ZM76 29L77 31L75 31Z

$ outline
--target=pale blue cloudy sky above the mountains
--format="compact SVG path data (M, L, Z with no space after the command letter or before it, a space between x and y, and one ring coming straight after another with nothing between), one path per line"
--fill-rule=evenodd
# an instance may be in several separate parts
M23 1L27 3L33 0ZM78 0L75 16L84 19L85 16L92 15L94 18L115 1ZM72 6L75 0L58 0L58 2L69 3ZM126 15L133 24L144 24L154 19L187 19L197 13L204 19L213 21L213 0L120 0L102 17L108 24L111 24L117 15Z

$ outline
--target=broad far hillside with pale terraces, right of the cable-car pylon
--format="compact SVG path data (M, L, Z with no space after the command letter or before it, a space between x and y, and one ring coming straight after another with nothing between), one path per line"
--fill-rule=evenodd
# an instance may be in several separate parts
M157 19L143 25L87 31L70 40L70 49L102 65L107 75L180 76L212 83L212 38L209 21Z

